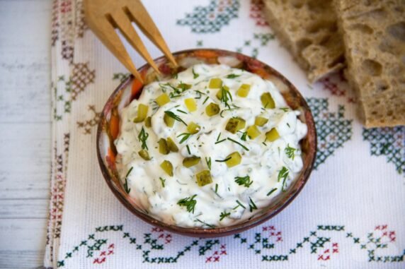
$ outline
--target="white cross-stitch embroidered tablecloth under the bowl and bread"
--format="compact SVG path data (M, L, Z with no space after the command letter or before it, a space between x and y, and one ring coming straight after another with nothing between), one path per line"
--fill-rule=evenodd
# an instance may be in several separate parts
M138 220L108 189L96 159L99 112L128 73L86 27L82 1L55 0L45 267L405 268L405 127L363 128L341 74L309 85L266 24L261 1L144 4L172 51L242 52L289 78L316 121L315 170L282 213L241 234L197 239Z

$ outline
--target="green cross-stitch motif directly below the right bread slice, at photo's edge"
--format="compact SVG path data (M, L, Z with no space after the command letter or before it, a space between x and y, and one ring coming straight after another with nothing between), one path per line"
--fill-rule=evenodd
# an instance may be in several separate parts
M371 155L385 155L405 176L405 126L393 128L363 128L363 139L370 142Z

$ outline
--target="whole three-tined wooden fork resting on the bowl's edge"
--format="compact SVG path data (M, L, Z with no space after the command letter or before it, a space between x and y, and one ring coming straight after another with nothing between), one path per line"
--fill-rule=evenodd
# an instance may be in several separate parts
M120 30L125 39L156 72L160 73L159 68L132 26L132 21L164 53L169 61L177 66L176 60L169 47L167 47L159 29L140 0L84 0L84 13L87 24L105 47L141 82L142 78L132 63L130 55L127 53L117 32L115 32L115 28Z

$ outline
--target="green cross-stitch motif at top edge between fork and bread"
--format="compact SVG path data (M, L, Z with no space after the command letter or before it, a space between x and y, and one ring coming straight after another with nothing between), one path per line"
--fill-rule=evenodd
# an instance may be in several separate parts
M219 32L230 20L238 18L239 7L239 0L211 0L208 6L195 6L177 24L190 26L191 32Z

